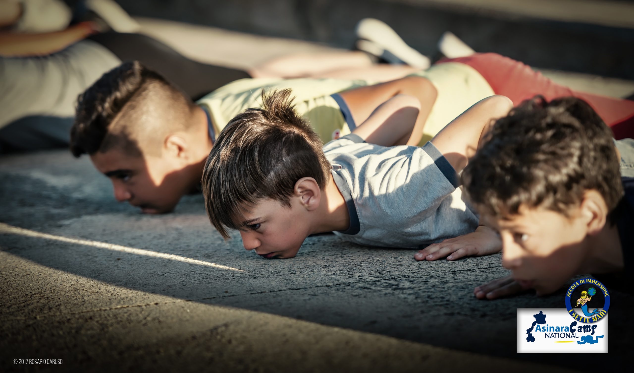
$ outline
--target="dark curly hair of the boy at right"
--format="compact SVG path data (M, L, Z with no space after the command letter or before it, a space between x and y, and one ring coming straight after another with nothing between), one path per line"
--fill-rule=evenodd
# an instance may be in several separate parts
M610 211L623 196L612 132L585 101L537 96L498 119L463 170L481 213L517 215L521 205L567 215L595 189Z

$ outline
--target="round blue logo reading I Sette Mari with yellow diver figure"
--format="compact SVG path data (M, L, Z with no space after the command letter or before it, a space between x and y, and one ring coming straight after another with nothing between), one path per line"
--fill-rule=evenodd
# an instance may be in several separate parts
M566 291L566 310L573 319L590 324L605 317L610 293L595 279L580 279Z

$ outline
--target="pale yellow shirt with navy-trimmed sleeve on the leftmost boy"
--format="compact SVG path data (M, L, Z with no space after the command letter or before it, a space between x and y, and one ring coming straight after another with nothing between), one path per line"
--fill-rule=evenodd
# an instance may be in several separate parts
M477 101L494 94L482 75L463 63L441 63L412 75L429 79L437 90L420 146ZM197 103L209 110L214 129L219 133L239 113L248 108L261 108L263 90L290 88L295 96L295 109L326 143L333 139L335 130L339 130L340 136L350 133L339 105L330 95L370 84L373 82L342 79L241 79L216 89Z

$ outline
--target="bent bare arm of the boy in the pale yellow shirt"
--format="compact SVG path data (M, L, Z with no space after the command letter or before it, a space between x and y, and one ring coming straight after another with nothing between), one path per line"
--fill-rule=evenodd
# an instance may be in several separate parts
M397 94L408 94L420 101L420 112L413 133L422 133L437 95L436 87L429 80L423 77L404 77L391 82L340 92L340 96L346 101L356 123L364 122L375 108ZM410 137L407 144L417 145L418 142Z

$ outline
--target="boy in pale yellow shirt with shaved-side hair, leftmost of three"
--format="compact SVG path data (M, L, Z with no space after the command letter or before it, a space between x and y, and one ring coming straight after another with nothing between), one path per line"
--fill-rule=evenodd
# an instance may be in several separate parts
M242 79L230 86L251 81ZM333 129L346 123L342 109L329 96L330 90L346 89L353 83L334 79L261 82L262 87L297 87L303 95L299 99L302 113L316 130L327 133L327 141ZM419 101L433 102L424 96L429 92L425 84L429 82L423 78L410 77L381 87L363 87L374 88L366 94L353 89L341 96L348 92L356 95L358 103L346 106L346 112L353 113L355 120L365 120L378 104L399 92L419 94ZM194 103L159 73L138 62L124 63L105 73L79 97L70 150L75 156L91 157L97 170L112 180L118 201L128 201L145 213L170 212L181 196L200 188L204 162L226 124L220 122L218 113L233 111L235 105L242 107L245 100L252 102L249 89L228 94L221 88L214 95ZM385 99L375 103L377 99L368 96ZM422 129L422 123L418 127ZM415 133L417 138L399 141L416 144L422 134L420 130Z

